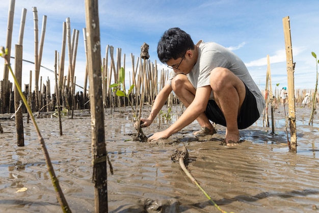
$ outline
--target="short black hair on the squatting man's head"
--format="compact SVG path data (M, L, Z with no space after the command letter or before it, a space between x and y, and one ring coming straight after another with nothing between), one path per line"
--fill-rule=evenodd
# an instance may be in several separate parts
M157 56L159 61L166 64L171 59L183 57L189 49L194 49L191 36L179 28L171 28L158 41Z

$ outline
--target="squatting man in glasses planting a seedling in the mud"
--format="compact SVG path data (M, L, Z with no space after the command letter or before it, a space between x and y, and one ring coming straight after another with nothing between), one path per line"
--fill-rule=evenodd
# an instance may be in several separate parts
M194 135L216 133L210 121L226 126L223 143L236 145L238 129L252 125L261 115L264 98L245 64L231 51L213 42L199 41L179 28L169 29L157 45L159 60L173 69L173 75L155 98L147 119L149 126L172 90L187 108L179 119L148 140L166 139L197 120L201 129Z

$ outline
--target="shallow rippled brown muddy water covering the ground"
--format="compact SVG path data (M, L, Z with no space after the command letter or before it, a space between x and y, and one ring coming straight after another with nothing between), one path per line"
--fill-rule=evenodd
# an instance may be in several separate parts
M260 118L241 131L242 144L227 147L220 145L224 127L217 125L217 134L197 139L192 135L199 128L196 122L167 140L132 141L128 108L112 114L108 109L105 140L114 168L114 175L108 169L109 212L219 212L171 161L182 145L189 151L189 171L227 212L318 212L318 116L309 126L310 109L297 108L298 152L292 153L283 110L280 106L275 112L275 134ZM171 114L174 121L179 109ZM14 119L0 121L5 131L0 135L0 212L62 212L32 122L24 123L25 146L17 147ZM94 212L89 112L64 117L63 136L58 119L45 116L37 123L71 210ZM148 135L167 126L162 120L143 130Z

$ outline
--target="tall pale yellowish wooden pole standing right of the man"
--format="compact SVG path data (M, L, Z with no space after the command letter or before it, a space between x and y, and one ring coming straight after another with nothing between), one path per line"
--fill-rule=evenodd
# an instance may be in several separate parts
M295 110L295 85L294 85L294 61L293 48L291 46L290 22L289 16L282 19L285 49L286 49L286 66L288 81L288 107L289 107L289 129L290 129L290 146L291 151L297 152L297 132L296 132L296 110ZM288 144L289 145L289 144Z

